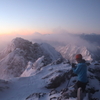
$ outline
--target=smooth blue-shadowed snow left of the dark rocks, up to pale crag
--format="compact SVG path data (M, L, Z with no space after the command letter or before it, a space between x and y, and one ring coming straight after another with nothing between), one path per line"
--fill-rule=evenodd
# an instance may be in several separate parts
M40 100L49 100L50 97L48 95L51 89L45 88L46 80L43 79L43 77L56 70L70 70L71 67L68 64L59 64L48 65L38 70L38 68L41 67L42 60L43 57L39 58L34 64L31 64L31 62L29 62L29 65L27 66L21 77L7 80L9 81L7 84L9 88L0 91L0 100L26 100L26 98L33 93L46 93L47 95ZM37 69L34 69L36 67L35 65L39 65ZM38 99L35 98L28 100Z

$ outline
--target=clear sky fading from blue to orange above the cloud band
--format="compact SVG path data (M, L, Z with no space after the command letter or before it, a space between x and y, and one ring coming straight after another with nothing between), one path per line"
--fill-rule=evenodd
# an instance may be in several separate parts
M0 34L100 34L100 0L0 0Z

